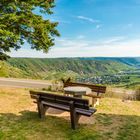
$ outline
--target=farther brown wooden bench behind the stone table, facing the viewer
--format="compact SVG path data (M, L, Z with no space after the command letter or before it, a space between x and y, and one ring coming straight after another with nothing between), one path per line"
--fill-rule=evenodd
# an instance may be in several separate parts
M64 87L81 86L81 87L90 88L91 93L87 93L85 96L92 97L92 105L94 107L96 106L96 104L99 104L99 99L102 97L101 94L106 92L106 86L71 82L70 78L67 81L62 79L62 81L63 81ZM94 93L96 93L96 95Z

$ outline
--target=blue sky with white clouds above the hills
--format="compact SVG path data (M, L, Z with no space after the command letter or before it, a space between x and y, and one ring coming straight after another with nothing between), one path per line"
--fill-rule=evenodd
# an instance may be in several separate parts
M56 0L53 11L43 18L59 22L55 46L45 54L25 43L12 57L140 56L140 0Z

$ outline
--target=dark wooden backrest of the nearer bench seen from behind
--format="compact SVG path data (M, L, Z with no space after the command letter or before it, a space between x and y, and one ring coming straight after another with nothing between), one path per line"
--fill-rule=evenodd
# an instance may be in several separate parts
M81 99L76 97L62 96L43 91L30 91L31 98L40 101L45 101L54 104L69 106L70 102L74 102L74 107L80 109L89 109L89 101L87 99Z

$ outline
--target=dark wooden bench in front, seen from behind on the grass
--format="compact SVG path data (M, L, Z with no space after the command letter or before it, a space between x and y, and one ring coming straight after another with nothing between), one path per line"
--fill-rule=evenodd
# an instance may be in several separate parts
M30 96L37 103L38 114L40 118L45 116L49 107L70 112L71 128L75 129L81 115L90 117L96 112L96 109L89 107L87 99L62 96L46 93L42 91L30 91Z

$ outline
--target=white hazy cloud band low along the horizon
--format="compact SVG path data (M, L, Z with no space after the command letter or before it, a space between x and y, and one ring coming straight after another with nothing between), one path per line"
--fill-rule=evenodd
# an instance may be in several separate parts
M124 40L123 37L113 37L102 41L87 41L79 39L59 39L57 46L52 47L48 54L41 51L20 49L12 51L14 57L121 57L140 56L140 39Z

